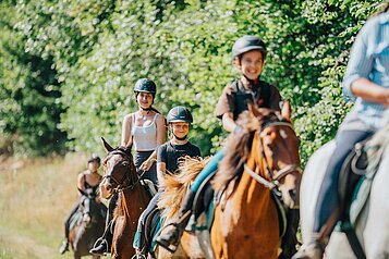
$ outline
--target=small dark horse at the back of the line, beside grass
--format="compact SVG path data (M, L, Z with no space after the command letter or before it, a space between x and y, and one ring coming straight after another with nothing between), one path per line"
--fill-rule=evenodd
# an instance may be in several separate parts
M80 217L80 220L69 232L69 243L75 259L92 256L89 249L94 246L96 238L104 233L107 213L106 207L96 201L96 194L92 189L82 192L80 200L80 209L75 214ZM100 257L93 256L93 258Z

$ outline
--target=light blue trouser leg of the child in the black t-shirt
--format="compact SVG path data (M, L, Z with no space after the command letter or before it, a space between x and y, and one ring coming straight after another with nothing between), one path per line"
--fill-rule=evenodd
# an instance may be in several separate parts
M133 247L138 250L139 252L143 254L143 251L145 250L144 247L147 246L149 244L145 244L145 238L144 235L145 233L145 225L146 225L146 220L147 217L156 209L158 208L158 199L160 197L161 190L158 192L153 199L150 200L150 202L148 203L147 208L145 209L145 211L143 211L143 213L139 217L139 220L137 222L137 230L135 233L135 237L134 237L134 243L133 243Z

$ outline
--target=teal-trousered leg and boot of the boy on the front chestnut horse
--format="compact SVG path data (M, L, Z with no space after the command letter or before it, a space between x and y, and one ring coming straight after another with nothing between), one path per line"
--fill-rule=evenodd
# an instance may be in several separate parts
M218 168L219 161L223 158L223 149L217 152L203 171L197 175L195 182L192 184L191 189L187 192L181 209L179 211L179 219L177 222L169 224L162 230L161 234L157 236L156 242L158 245L165 247L170 251L175 251L179 246L181 235L190 220L193 207L193 200L202 185L203 181Z

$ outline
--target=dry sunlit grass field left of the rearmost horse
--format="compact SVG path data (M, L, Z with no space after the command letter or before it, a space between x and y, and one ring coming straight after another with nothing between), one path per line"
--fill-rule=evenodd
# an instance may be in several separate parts
M58 254L87 157L0 162L0 259L73 258Z

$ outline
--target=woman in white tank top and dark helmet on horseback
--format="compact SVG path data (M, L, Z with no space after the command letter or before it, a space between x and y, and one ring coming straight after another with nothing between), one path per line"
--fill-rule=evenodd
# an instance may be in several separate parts
M150 180L155 186L158 184L157 170L154 162L157 158L157 148L166 138L166 122L163 115L153 104L157 94L156 84L148 78L141 78L134 87L138 110L124 116L122 124L122 150L135 149L134 163L142 178ZM109 202L106 231L99 243L90 249L94 255L108 252L112 243L110 231L113 224L113 210L117 207L118 194Z

